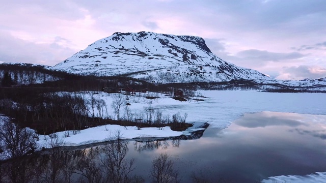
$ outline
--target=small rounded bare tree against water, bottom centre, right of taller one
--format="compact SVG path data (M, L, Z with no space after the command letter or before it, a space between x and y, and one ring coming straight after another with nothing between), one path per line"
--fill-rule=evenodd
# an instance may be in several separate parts
M160 154L152 161L150 177L155 183L180 182L179 172L174 169L174 161L167 154Z

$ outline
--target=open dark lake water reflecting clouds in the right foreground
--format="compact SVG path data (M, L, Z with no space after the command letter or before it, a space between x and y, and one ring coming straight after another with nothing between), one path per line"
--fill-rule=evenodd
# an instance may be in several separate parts
M129 142L136 174L148 177L153 157L167 153L183 182L191 174L232 182L255 182L269 176L326 171L326 116L281 112L247 113L226 129L208 128L200 139L161 141L161 146Z

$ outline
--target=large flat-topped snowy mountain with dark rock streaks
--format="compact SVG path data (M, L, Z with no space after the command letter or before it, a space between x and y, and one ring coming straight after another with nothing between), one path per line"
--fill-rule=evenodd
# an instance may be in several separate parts
M124 75L156 83L257 80L276 82L213 54L203 38L151 32L114 33L53 67L82 75Z

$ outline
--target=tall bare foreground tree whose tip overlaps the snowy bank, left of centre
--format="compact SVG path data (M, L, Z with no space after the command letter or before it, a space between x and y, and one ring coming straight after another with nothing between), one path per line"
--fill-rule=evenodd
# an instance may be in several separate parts
M116 140L107 142L102 147L104 154L101 165L110 182L130 182L130 173L134 170L134 159L126 160L128 152L127 142L122 141L119 131L116 132Z

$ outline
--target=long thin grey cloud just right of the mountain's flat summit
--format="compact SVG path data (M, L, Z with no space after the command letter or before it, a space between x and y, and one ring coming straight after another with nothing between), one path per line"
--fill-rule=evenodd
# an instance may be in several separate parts
M250 49L250 50L240 51L236 54L236 56L247 60L278 62L280 60L302 58L305 55L298 52L277 53L277 52L269 52L265 50Z

